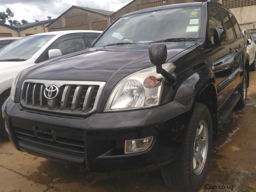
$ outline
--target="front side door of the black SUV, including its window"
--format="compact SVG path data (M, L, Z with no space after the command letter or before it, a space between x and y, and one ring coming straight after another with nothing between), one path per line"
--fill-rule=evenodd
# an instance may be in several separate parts
M225 16L225 15L224 15ZM225 18L226 20L226 18ZM210 43L212 45L212 56L214 59L214 64L212 66L215 82L218 91L218 108L228 99L229 95L232 93L235 86L234 77L234 48L233 48L233 29L226 29L224 20L221 17L220 10L217 7L211 7L209 9L209 34ZM224 28L227 33L233 34L229 35L226 41L221 42L221 44L216 45L213 42L213 32L214 28Z

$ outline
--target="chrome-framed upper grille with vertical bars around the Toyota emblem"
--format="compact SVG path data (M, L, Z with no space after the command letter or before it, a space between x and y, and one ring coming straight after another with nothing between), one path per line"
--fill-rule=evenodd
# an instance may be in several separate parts
M58 113L90 114L97 109L105 84L105 82L25 80L20 103L24 107ZM56 98L47 99L44 96L44 90L48 85L58 87Z

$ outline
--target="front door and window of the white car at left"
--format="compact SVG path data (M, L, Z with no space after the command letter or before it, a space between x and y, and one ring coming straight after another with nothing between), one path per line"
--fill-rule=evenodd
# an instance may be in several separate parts
M84 41L84 33L72 33L56 39L36 60L36 63L43 62L49 59L48 51L50 49L59 49L62 55L83 51L86 49Z

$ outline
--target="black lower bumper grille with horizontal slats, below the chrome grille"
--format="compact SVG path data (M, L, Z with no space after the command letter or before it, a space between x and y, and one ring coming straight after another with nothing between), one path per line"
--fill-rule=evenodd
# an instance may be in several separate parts
M19 142L45 150L76 157L85 157L84 142L52 135L50 132L32 131L14 127Z

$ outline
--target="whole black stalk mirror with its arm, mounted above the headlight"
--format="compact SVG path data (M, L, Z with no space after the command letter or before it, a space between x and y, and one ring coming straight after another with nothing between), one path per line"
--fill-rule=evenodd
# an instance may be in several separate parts
M165 44L153 44L148 48L149 59L156 66L156 73L160 73L171 84L176 82L176 76L172 76L162 68L167 59L167 47Z

